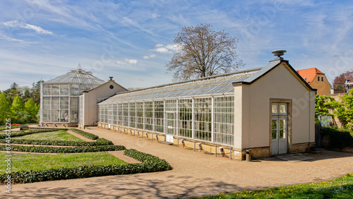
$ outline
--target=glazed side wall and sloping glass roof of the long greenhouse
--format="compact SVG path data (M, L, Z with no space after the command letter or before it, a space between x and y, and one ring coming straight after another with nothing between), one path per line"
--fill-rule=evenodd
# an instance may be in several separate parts
M190 80L100 102L98 121L224 145L234 145L234 86L253 71ZM170 140L172 141L172 140Z

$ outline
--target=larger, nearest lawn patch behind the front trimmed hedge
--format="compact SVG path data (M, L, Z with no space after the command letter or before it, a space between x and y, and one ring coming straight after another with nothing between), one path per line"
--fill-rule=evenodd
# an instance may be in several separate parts
M88 165L128 164L108 152L85 152L80 154L12 154L11 171L42 171L62 167L80 167ZM0 152L0 159L6 159L6 153ZM0 164L0 174L5 174L6 164Z

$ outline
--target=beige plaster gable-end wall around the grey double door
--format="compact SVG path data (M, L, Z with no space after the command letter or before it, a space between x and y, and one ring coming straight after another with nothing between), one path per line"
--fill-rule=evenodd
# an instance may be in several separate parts
M235 139L239 134L242 138L241 145L236 142L235 147L270 145L270 99L292 100L292 144L314 142L315 91L310 91L286 64L282 63L251 85L234 89Z

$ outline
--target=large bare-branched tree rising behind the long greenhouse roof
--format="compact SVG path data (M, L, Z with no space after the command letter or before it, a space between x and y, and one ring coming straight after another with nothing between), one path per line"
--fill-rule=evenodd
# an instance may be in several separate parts
M215 76L244 66L236 52L238 39L210 24L184 27L174 38L178 52L166 64L173 81Z

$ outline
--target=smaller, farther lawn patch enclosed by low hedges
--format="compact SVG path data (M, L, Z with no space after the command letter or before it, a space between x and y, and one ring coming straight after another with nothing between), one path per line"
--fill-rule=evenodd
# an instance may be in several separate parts
M80 138L77 138L74 135L71 135L70 133L67 133L64 130L61 131L53 131L53 132L44 132L44 133L35 133L35 134L30 134L30 135L24 135L21 137L15 137L13 139L26 139L26 140L70 140L70 141L76 141L76 142L85 142L84 140L81 140Z

